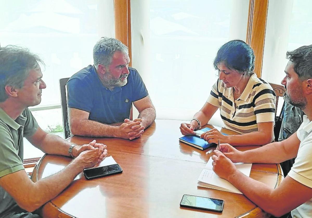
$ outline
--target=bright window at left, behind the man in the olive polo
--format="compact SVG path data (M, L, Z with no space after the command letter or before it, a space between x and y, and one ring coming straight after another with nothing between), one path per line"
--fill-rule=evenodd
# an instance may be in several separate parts
M1 2L1 46L27 47L46 64L42 71L47 88L42 91L40 105L31 109L42 129L61 130L59 79L93 64L92 49L100 36L115 36L113 3L113 0ZM44 106L52 109L35 112ZM28 146L24 158L39 154L27 150Z

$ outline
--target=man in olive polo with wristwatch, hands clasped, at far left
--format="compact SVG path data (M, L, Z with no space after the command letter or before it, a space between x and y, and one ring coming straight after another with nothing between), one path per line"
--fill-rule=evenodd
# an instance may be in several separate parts
M41 102L46 88L39 62L27 49L0 48L0 217L39 217L39 207L63 191L84 168L97 166L107 155L106 145L95 140L71 145L38 126L28 107ZM75 159L59 173L32 182L23 167L23 137L47 154Z

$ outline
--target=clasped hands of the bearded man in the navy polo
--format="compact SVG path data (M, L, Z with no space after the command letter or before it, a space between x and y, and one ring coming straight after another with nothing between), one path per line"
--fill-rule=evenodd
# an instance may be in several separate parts
M133 140L142 136L145 127L142 125L142 119L132 120L124 119L124 123L119 126L119 138Z

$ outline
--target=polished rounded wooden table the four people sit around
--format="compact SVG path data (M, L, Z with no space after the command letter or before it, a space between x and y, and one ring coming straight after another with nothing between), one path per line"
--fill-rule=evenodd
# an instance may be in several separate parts
M182 122L185 121L156 120L141 138L132 141L98 138L97 142L107 145L109 155L123 173L93 180L86 180L80 173L69 187L46 203L43 216L269 217L244 195L197 187L197 178L215 147L201 151L179 143ZM226 129L222 132L232 133ZM74 136L69 141L88 144L92 139ZM32 180L56 173L70 161L64 156L45 155L35 167ZM250 177L272 188L283 179L279 164L253 164ZM223 212L182 208L179 203L184 194L223 199Z

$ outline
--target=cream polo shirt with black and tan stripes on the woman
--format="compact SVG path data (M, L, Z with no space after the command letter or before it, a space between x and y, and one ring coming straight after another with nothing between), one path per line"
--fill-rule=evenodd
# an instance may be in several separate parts
M275 122L275 93L269 83L253 73L241 96L234 104L233 88L225 88L222 80L212 86L207 102L220 108L227 129L237 133L258 131L257 123Z

